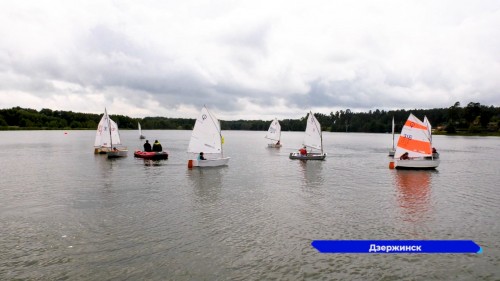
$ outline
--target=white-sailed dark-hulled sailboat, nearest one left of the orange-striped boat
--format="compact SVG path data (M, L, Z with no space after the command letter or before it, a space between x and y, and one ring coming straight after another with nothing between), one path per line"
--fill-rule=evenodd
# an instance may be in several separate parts
M307 151L309 148L309 151ZM321 124L314 117L312 111L307 117L307 126L304 136L304 153L292 152L290 159L301 160L324 160L326 153L323 153L323 135L321 133Z

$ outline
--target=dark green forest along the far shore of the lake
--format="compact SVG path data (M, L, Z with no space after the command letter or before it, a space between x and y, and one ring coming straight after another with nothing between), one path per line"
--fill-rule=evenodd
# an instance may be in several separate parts
M413 110L370 110L352 112L350 109L315 113L322 130L330 132L386 133L392 130L392 118L396 123L396 132L413 113L419 119L424 116L430 120L435 133L442 134L478 134L500 135L500 107L485 106L478 102L469 102L461 106L459 102L448 108L413 109ZM70 130L96 129L102 114L79 113L52 109L13 107L0 109L0 130ZM154 130L191 130L195 119L145 117L131 118L124 115L110 115L120 129ZM300 119L279 120L282 131L304 131L307 114ZM221 120L223 130L266 131L271 120Z

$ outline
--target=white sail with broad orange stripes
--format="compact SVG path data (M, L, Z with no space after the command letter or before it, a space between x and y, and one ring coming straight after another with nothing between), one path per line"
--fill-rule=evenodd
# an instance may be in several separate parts
M399 135L394 158L398 159L405 152L408 152L409 157L432 156L428 126L428 122L424 123L410 113Z

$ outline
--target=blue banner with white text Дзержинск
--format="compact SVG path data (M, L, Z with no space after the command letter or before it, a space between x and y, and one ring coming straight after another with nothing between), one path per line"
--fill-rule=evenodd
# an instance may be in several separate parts
M472 240L314 240L320 253L330 254L480 254Z

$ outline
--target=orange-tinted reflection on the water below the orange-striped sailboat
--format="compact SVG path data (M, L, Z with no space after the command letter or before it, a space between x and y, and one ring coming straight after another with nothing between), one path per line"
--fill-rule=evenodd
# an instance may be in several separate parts
M395 171L397 200L404 221L427 219L431 207L432 173L433 171Z

